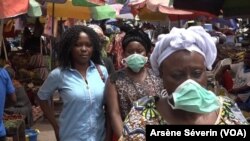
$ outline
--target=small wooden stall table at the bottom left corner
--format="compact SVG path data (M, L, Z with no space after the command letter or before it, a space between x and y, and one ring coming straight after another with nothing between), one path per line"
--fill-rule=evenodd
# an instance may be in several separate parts
M25 141L25 117L21 115L4 116L6 137L12 137L13 141Z

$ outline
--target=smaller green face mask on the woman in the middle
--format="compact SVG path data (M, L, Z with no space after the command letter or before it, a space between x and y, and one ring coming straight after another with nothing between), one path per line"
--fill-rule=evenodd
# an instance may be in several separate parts
M127 66L134 72L139 72L148 61L148 57L140 54L132 54L123 59Z

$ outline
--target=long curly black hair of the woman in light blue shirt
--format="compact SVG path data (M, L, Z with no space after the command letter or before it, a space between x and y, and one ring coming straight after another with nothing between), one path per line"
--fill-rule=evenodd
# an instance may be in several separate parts
M102 64L101 62L101 46L100 39L97 33L87 27L82 25L75 25L67 29L58 43L58 63L62 68L70 68L72 63L71 52L75 47L77 40L79 39L79 34L81 32L86 33L89 36L89 39L93 46L93 54L91 56L91 61L95 64Z

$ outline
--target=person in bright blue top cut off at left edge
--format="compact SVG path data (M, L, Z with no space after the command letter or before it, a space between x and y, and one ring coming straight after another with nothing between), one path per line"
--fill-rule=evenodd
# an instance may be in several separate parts
M6 96L13 103L16 102L15 88L6 69L0 66L0 141L6 140L6 131L3 123L4 104Z

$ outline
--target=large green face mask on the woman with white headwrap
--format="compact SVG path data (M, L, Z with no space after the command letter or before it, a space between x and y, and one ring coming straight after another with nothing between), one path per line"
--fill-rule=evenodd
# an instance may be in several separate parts
M174 105L169 99L173 98ZM181 109L192 113L209 113L220 107L219 98L212 92L203 88L194 80L183 82L171 96L168 102L173 109Z

